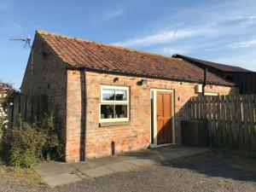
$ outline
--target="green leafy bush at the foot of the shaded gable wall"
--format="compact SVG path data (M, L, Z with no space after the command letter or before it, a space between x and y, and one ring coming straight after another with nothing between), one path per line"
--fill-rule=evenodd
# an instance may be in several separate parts
M61 158L62 145L52 114L33 124L20 119L19 125L8 128L5 134L5 151L9 151L13 166L31 168L39 160Z

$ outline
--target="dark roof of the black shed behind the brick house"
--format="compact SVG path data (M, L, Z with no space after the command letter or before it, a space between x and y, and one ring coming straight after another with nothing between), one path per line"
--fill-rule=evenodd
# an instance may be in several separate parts
M172 57L181 58L186 61L195 61L196 63L201 64L205 67L212 67L222 72L235 72L235 73L252 72L242 67L225 65L221 63L212 62L212 61L204 61L204 60L195 59L193 57L189 57L185 55L172 55Z

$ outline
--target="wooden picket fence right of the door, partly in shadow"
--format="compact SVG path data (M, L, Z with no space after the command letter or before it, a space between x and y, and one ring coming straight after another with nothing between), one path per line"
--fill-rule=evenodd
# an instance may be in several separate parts
M213 145L256 149L256 95L197 96L188 107L186 119L208 121Z

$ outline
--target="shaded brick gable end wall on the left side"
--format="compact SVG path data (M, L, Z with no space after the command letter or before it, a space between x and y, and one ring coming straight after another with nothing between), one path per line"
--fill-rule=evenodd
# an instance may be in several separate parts
M47 55L41 55L41 51ZM32 52L20 87L21 93L48 96L49 111L55 115L56 125L61 130L62 142L65 144L67 65L38 35L33 42Z

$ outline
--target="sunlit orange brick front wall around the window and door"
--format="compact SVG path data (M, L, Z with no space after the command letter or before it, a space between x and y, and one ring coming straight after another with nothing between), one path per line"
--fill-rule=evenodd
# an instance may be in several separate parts
M119 80L113 83L114 78ZM150 144L150 89L175 90L175 140L181 143L180 110L191 96L195 96L195 84L160 79L148 79L148 84L139 86L142 78L120 76L107 73L86 73L87 84L87 124L86 158L111 154L114 141L117 153L140 148ZM81 73L67 72L67 161L79 161L81 131ZM124 85L130 87L130 125L99 127L100 85ZM207 86L207 91L228 95L238 91L225 86ZM179 101L178 101L179 98Z

